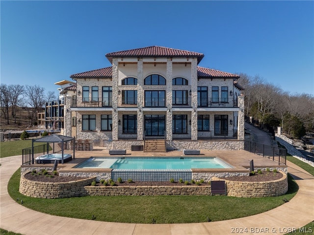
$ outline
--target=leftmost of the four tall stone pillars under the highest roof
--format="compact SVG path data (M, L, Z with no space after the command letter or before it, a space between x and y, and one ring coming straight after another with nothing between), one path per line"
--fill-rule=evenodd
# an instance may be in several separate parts
M112 140L118 140L118 59L112 59Z

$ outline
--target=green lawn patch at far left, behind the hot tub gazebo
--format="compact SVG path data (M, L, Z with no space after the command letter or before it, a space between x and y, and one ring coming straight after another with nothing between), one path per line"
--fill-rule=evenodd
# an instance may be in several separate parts
M43 144L45 143L35 142L34 146L39 146ZM22 155L22 150L26 148L31 148L31 139L1 142L0 143L0 157L2 158L2 157ZM52 148L49 147L49 150L52 150ZM43 151L43 150L40 149L40 151Z

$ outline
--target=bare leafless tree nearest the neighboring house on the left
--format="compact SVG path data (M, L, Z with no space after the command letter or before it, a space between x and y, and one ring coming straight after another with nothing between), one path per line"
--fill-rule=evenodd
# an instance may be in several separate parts
M33 108L31 115L31 124L34 125L37 112L39 112L45 105L45 88L38 85L26 85L26 96L28 97L28 104Z

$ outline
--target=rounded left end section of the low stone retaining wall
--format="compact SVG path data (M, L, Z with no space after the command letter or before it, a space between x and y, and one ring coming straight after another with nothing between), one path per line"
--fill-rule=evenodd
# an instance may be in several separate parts
M84 186L90 185L94 180L95 177L66 183L45 183L27 180L24 174L21 176L19 191L23 195L35 198L88 196L89 194Z

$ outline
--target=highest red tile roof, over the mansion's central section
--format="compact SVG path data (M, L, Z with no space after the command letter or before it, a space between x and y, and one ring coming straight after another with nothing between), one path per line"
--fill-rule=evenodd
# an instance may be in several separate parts
M197 57L198 63L204 57L204 54L190 52L167 47L144 47L120 52L106 53L106 57L112 63L113 57Z

